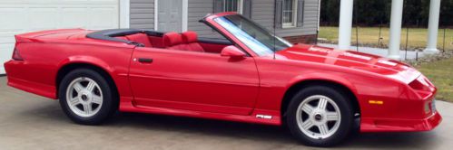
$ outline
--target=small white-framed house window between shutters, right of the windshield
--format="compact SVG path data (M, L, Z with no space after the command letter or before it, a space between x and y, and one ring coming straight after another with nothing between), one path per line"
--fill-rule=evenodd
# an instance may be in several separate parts
M283 27L295 27L297 23L297 0L283 0L281 23Z

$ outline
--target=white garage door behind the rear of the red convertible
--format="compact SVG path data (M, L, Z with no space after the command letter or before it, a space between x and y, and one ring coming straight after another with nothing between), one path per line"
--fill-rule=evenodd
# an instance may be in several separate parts
M14 35L48 29L119 27L120 0L0 0L0 74Z

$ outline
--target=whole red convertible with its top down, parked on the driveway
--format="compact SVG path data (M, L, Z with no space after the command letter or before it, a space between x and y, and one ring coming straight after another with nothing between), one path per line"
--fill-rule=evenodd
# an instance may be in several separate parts
M428 131L441 117L436 87L379 56L292 44L240 14L195 32L53 30L15 36L8 85L59 99L75 123L116 111L287 126L303 144L338 144L361 132Z

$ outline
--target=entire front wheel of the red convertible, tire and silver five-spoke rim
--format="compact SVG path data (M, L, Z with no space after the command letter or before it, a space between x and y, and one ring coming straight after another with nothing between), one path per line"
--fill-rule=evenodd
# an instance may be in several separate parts
M329 86L300 90L287 110L287 125L292 135L306 145L336 145L353 127L350 98Z

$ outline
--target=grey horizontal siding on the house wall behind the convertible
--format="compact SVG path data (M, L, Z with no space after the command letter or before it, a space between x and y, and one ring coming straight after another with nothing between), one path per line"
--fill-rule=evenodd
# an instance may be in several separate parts
M303 25L301 27L276 29L280 36L316 34L318 26L319 0L304 0ZM251 19L273 31L274 0L252 0ZM212 14L213 0L188 0L188 30L201 37L219 37L212 29L198 21L206 14ZM154 0L131 0L131 27L153 29Z

